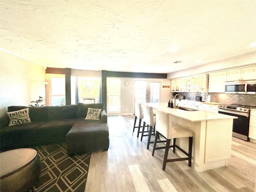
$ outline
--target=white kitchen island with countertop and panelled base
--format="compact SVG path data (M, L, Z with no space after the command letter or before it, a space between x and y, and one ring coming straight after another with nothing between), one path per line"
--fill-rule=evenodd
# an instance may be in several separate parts
M226 166L231 154L233 119L237 117L203 110L174 109L167 107L167 103L143 104L171 114L172 122L194 132L192 167L196 171ZM188 152L188 138L177 138L176 144ZM178 149L176 153L184 156Z

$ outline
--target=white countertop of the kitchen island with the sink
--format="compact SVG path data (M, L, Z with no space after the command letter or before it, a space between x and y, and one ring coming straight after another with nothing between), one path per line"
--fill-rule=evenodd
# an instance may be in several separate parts
M168 103L142 103L147 106L151 106L155 109L168 112L174 116L179 118L183 118L192 122L196 121L206 121L206 120L218 120L218 119L236 119L235 116L220 114L220 113L213 113L203 110L198 111L185 111L181 109L174 109L168 107Z

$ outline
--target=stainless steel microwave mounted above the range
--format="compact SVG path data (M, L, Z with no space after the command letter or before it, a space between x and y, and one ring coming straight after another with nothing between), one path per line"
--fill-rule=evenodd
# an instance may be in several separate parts
M256 80L227 81L225 93L256 94Z

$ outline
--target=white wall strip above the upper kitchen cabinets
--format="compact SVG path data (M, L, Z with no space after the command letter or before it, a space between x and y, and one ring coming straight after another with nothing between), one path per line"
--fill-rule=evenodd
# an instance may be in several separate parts
M168 79L256 64L256 51L167 74Z

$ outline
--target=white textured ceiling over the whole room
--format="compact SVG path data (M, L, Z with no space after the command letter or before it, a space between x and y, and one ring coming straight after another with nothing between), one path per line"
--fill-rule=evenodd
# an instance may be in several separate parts
M46 67L169 73L256 50L256 0L1 0L0 8L1 50Z

